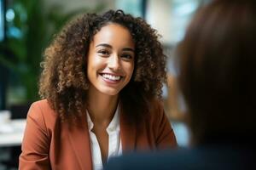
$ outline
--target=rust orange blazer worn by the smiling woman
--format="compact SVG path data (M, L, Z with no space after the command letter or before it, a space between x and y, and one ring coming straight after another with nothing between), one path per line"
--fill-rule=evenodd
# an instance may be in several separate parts
M125 122L120 113L120 138L123 153L131 150L155 150L176 146L172 127L162 105L140 126ZM32 104L26 118L26 131L21 146L20 170L92 169L90 135L86 116L84 124L70 127L61 122L46 99Z

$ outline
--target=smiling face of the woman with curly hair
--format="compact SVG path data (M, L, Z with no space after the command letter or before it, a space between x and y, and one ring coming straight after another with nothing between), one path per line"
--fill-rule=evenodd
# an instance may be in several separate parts
M103 26L90 42L87 62L89 90L117 95L130 82L135 44L131 33L118 24Z

